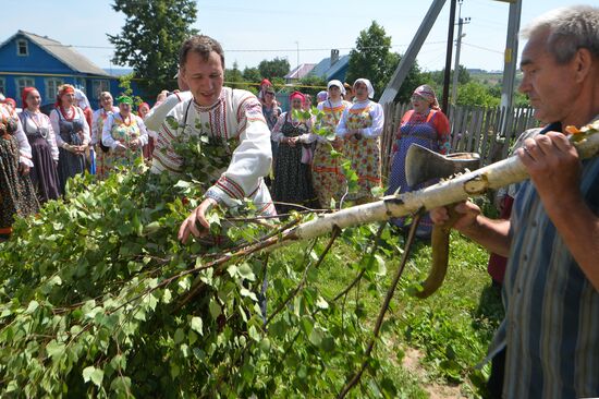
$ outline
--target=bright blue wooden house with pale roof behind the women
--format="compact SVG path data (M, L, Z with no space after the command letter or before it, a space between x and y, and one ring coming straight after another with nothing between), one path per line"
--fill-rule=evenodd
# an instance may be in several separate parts
M57 88L63 83L81 88L94 109L99 107L101 92L118 95L122 90L118 77L47 36L19 31L0 44L0 92L14 98L19 107L24 87L36 87L46 105L56 101Z

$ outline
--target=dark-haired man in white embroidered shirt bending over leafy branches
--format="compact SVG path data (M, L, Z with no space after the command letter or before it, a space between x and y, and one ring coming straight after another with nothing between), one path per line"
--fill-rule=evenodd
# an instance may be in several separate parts
M181 171L183 159L174 152L173 141L181 135L198 135L198 126L208 130L203 133L227 143L223 145L239 142L227 170L219 173L220 178L215 177L218 180L208 189L205 200L181 225L179 239L186 242L190 234L207 234L210 226L206 213L217 204L233 207L247 197L259 213L274 214L262 179L270 170L272 155L260 101L249 92L223 87L224 52L220 44L208 36L193 36L182 45L179 61L181 77L193 98L178 104L167 116L174 118L180 129L162 122L151 170Z

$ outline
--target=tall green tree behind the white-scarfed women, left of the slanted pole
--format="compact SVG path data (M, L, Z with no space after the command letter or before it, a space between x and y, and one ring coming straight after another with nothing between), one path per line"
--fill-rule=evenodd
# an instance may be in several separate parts
M350 52L346 81L368 78L375 87L375 98L379 98L400 60L390 49L391 37L386 36L384 28L372 21L368 29L359 33L356 48Z

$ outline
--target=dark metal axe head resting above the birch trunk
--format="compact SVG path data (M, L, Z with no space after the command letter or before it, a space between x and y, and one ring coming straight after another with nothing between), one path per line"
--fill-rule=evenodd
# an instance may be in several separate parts
M412 144L405 156L405 177L409 186L431 179L447 179L456 173L478 169L480 156L476 153L441 155L418 144Z

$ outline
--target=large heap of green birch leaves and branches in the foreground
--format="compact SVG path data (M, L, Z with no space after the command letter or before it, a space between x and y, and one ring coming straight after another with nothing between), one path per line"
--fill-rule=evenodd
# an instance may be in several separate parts
M337 299L318 289L319 267L335 262L326 256L334 235L327 247L311 241L295 244L291 258L270 255L266 321L266 255L176 241L207 189L199 182L205 176L193 173L215 167L210 148L201 140L180 147L194 161L178 178L77 177L65 202L15 223L0 251L0 395L321 397L341 390L364 362L370 328L359 301L347 305L349 289ZM278 232L259 219L211 218L227 226L215 233L237 244ZM341 235L366 254L347 271L371 288L384 273L372 232L362 227ZM358 389L396 395L390 370L375 353Z

